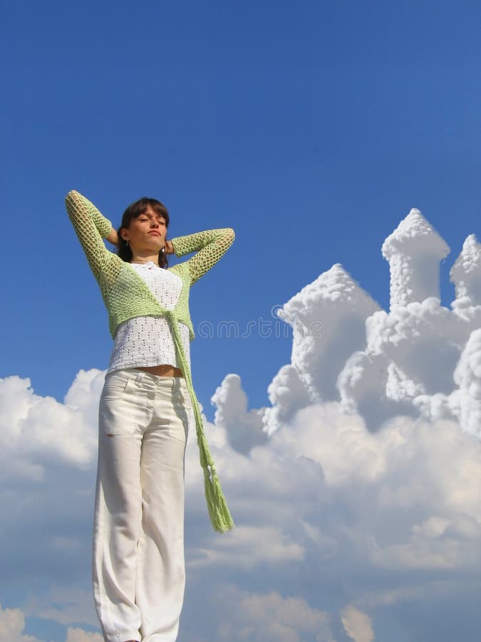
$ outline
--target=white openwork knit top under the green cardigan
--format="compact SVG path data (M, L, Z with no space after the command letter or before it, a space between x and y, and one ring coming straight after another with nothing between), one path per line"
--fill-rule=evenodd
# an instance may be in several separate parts
M143 278L160 305L173 310L180 297L182 279L152 261L130 265ZM189 328L179 323L179 330L190 367ZM180 367L169 320L165 317L133 317L119 325L107 372L163 364Z

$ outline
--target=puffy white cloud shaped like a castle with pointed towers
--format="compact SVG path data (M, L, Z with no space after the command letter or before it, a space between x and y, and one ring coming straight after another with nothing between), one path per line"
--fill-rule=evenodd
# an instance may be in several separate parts
M391 270L390 310L337 264L279 311L294 329L293 349L291 364L269 386L269 434L304 407L306 395L311 402L341 401L371 431L403 414L456 419L481 434L473 355L481 325L480 244L470 235L452 267L450 308L439 296L439 263L449 248L420 210L410 211L382 252Z

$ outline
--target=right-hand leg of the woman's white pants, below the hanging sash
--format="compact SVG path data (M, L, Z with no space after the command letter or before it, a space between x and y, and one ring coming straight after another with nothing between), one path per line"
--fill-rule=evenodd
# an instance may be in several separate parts
M143 642L177 639L185 590L184 462L188 391L181 377L157 377L141 452L142 529L135 599Z

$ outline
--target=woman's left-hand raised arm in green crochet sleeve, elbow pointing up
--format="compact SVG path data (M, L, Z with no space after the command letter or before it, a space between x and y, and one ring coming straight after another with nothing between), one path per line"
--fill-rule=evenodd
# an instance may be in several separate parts
M86 253L88 264L95 278L105 269L112 253L105 248L103 238L112 232L112 224L90 200L76 190L71 190L65 199L68 217L73 223L78 240Z

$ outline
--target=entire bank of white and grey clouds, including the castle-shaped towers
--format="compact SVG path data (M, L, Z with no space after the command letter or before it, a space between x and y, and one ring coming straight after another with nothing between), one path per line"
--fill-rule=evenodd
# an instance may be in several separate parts
M334 265L280 313L293 350L269 385L271 406L249 409L237 374L220 382L205 427L237 526L212 531L191 430L180 641L361 642L398 631L450 642L479 631L478 245L465 244L457 299L441 306L435 265L447 245L413 210L383 246L391 310ZM28 379L0 381L2 588L31 586L23 613L63 624L69 642L96 639L78 626L96 621L102 383L103 372L79 372L61 404Z

